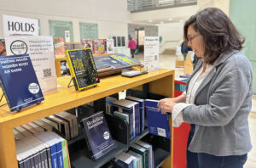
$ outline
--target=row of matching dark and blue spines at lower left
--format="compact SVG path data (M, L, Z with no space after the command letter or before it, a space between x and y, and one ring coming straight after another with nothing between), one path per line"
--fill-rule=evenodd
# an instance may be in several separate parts
M70 168L67 140L54 132L44 129L26 129L18 126L14 129L15 146L20 168Z

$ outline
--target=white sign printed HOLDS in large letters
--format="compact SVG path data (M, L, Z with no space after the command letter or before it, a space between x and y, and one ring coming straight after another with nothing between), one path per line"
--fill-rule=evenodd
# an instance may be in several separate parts
M3 14L4 36L38 36L38 20Z

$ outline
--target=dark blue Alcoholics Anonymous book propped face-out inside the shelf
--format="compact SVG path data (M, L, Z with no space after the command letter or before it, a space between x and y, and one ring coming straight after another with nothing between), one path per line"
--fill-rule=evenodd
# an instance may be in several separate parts
M113 148L116 148L116 143L109 132L108 123L102 111L85 117L81 120L81 123L84 127L85 142L92 159L98 160Z

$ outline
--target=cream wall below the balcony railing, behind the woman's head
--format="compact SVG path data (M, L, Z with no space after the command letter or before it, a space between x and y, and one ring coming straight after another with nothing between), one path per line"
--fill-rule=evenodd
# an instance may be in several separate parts
M197 5L132 13L131 22L176 19L176 22L158 25L159 36L163 37L163 42L160 44L160 53L163 53L165 49L176 48L183 41L184 21L188 20L191 15L208 7L221 8L224 13L229 14L230 0L197 0ZM179 20L183 20L183 22L178 22Z

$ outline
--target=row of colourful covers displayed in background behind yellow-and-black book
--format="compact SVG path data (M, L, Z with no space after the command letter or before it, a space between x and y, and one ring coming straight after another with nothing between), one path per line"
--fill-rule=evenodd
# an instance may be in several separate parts
M82 39L81 42L64 42L62 37L53 37L55 56L64 56L65 50L90 48L94 54L114 53L113 39Z

